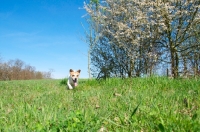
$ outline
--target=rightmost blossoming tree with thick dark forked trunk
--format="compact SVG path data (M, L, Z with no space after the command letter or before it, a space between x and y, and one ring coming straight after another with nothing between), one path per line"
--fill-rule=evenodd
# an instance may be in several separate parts
M180 57L186 50L192 49L199 44L188 43L189 39L195 37L193 32L199 19L199 1L157 1L154 13L155 18L162 31L158 40L163 49L170 54L171 74L176 78L179 73ZM188 51L188 52L190 52Z

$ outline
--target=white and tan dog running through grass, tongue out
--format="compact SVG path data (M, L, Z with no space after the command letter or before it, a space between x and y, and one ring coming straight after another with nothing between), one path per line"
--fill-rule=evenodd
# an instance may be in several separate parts
M81 73L81 70L74 71L72 69L69 70L69 78L67 81L67 85L69 89L73 89L78 86L78 78Z

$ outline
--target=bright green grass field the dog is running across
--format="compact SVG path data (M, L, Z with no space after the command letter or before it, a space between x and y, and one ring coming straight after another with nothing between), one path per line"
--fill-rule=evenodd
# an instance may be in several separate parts
M0 131L200 131L200 80L0 82Z

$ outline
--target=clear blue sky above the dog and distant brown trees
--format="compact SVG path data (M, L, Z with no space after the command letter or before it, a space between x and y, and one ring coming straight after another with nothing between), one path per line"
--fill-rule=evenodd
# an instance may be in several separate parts
M81 69L87 78L84 0L0 0L0 57L20 59L36 71L64 78Z

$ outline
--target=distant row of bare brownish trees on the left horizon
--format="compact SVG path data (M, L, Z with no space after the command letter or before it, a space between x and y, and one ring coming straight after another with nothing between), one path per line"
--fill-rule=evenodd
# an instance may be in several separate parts
M25 64L20 59L9 60L7 62L3 62L0 59L0 81L50 79L51 72L36 71L34 66Z

